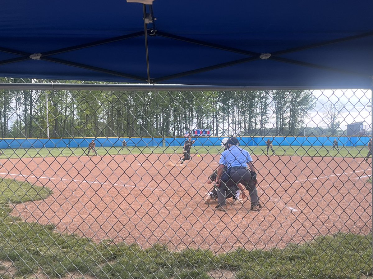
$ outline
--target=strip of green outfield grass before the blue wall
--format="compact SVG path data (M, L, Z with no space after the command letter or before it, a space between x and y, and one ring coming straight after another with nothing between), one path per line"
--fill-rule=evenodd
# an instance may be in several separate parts
M129 147L129 150L121 147L99 147L99 155L117 155L117 154L182 154L181 147ZM257 146L245 147L253 155L266 155L266 147ZM278 146L274 147L276 155L286 156L312 156L312 157L365 157L368 149L366 147L340 147L339 151L331 150L331 147L312 147L312 146ZM83 148L29 148L29 149L4 149L1 158L34 158L34 157L67 157L87 155ZM195 146L191 153L199 154L220 154L222 148L219 146ZM271 151L269 151L271 154ZM93 155L91 152L90 155Z

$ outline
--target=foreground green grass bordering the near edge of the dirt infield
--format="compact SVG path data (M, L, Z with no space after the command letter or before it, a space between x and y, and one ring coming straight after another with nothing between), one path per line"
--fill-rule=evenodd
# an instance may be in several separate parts
M95 243L76 234L60 234L52 224L23 222L9 214L6 202L43 199L50 190L9 179L0 181L0 189L0 259L13 262L16 276L42 270L56 278L78 271L102 279L205 279L210 271L229 269L240 279L360 278L372 272L371 235L339 233L284 249L238 248L219 255L200 249L171 251L161 244L143 249L111 240Z

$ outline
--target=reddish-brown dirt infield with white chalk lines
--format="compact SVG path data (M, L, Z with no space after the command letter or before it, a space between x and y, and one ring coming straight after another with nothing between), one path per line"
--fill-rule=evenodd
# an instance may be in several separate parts
M250 201L227 212L206 205L205 182L220 155L105 155L3 160L2 177L50 187L44 201L14 206L28 222L53 223L95 241L170 248L284 247L339 231L372 228L370 165L363 158L253 156L259 170L260 212Z

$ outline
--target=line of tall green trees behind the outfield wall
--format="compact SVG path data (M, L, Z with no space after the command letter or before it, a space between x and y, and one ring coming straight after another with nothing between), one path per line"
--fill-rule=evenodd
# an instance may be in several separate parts
M47 137L48 126L50 137L177 137L195 128L218 136L298 135L314 103L309 90L0 90L0 133Z

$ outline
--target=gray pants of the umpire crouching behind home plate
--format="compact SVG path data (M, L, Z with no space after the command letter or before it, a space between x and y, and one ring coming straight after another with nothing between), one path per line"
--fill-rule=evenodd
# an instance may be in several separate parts
M226 192L233 191L236 184L241 183L248 190L252 205L259 203L258 191L250 171L246 169L231 169L228 181L222 181L217 188L217 202L219 205L226 205Z

